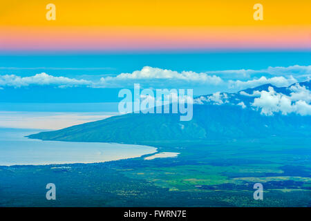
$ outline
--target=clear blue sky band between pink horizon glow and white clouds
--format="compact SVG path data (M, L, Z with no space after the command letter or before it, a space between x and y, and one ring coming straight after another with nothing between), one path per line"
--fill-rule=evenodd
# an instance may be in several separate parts
M0 71L1 75L15 73L21 76L29 76L46 72L55 76L77 77L82 75L131 73L134 70L140 70L144 66L179 72L182 70L192 70L194 72L238 69L258 70L269 66L307 66L311 64L310 57L311 52L308 51L124 52L106 54L89 52L74 55L65 52L6 52L0 54Z

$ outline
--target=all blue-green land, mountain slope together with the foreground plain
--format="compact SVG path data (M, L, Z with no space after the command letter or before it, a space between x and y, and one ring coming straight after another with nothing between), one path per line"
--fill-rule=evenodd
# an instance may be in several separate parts
M65 165L70 169L2 166L0 206L311 206L310 116L194 105L189 122L178 114L128 114L28 137L180 154ZM49 182L57 186L55 202L45 199ZM256 182L264 200L253 198Z

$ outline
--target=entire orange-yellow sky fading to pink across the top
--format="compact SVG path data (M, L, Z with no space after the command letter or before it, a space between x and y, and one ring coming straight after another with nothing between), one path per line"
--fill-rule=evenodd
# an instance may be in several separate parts
M253 19L255 3L263 21ZM310 8L301 0L1 1L0 50L311 49Z

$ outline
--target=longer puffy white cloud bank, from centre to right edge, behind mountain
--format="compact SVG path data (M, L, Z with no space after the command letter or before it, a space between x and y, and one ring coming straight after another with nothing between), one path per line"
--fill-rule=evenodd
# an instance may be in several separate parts
M158 83L169 80L172 84L221 85L232 89L243 89L273 84L275 86L289 86L301 79L308 79L311 66L269 67L263 70L216 70L196 73L193 71L177 72L162 68L145 66L133 73L121 73L115 77L102 77L102 85L124 84L131 81ZM233 80L234 79L234 80ZM152 81L151 81L152 80ZM151 81L151 82L150 82Z

